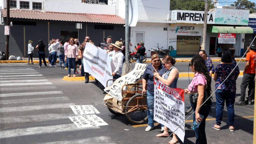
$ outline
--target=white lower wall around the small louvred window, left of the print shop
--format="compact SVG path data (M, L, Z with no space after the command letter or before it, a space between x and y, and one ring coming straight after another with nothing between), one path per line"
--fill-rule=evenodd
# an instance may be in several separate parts
M134 51L134 46L137 46L135 43L136 31L145 32L144 46L146 48L147 57L150 57L150 51L148 50L153 47L157 47L157 43L159 43L160 48L163 47L163 49L168 49L167 48L167 32L168 31L164 31L164 27L168 27L168 25L162 24L162 23L138 22L136 27L131 27L130 38L131 38L131 44L133 46L130 47L130 51Z

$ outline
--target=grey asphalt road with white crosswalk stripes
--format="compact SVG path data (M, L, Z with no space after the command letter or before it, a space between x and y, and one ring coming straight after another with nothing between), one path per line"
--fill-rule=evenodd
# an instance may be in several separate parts
M177 63L176 67L185 71L184 65L188 63ZM95 81L88 84L63 81L65 75L67 70L59 67L40 69L38 64L0 64L1 144L160 144L165 139L155 137L160 133L160 126L145 132L145 124L133 125L124 115L111 114L104 106L104 94ZM236 99L240 97L241 80L242 77L237 80ZM178 80L180 88L186 88L188 84L188 78ZM214 84L212 82L212 90ZM187 95L185 104L186 108L190 107ZM76 116L69 105L93 105L100 112L96 115L108 125L77 128L68 118ZM208 143L252 143L253 105L235 105L234 132L228 129L226 108L221 130L211 128L215 123L215 105L213 98L212 112L206 121ZM185 133L184 143L195 143L192 122L186 123Z

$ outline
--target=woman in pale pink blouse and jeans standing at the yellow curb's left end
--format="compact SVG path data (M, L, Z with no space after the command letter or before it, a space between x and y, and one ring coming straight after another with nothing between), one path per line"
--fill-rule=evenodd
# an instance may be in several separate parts
M78 60L78 46L75 44L73 38L69 39L69 45L67 47L67 55L65 56L65 61L68 60L68 76L71 75L71 65L73 66L73 77L76 77L76 59Z

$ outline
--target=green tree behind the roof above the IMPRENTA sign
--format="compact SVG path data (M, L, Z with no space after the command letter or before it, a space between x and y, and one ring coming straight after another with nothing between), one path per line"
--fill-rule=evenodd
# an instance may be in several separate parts
M204 5L203 0L170 0L170 10L204 11ZM211 1L208 2L208 8L215 8Z

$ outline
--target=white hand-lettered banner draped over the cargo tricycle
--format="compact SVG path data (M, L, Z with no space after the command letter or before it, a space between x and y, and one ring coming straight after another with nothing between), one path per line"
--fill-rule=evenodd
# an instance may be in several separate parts
M122 86L142 80L142 75L144 74L146 67L146 64L136 63L131 72L115 80L110 86L106 87L104 91L119 101L122 101ZM124 86L123 90L126 91L127 88L127 86Z

